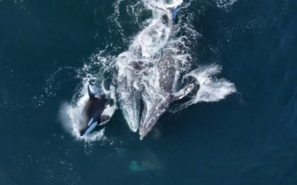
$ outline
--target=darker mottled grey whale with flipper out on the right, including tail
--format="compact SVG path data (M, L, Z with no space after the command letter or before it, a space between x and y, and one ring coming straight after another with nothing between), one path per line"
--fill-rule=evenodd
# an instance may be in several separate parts
M174 32L173 24L176 20L177 11L180 6L160 7L152 6L158 10L165 10L168 15L168 26ZM194 81L186 84L184 88L177 90L177 81L180 78L179 64L175 60L175 46L169 43L163 48L163 56L156 66L151 69L151 73L143 78L145 90L142 93L144 109L140 120L140 140L142 140L157 123L159 117L176 100L187 96L198 83ZM155 79L155 80L152 80Z

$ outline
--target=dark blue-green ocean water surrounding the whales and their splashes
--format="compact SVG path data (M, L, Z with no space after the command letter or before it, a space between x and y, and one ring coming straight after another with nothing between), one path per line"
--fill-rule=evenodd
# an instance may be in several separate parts
M297 2L184 4L191 65L221 65L237 92L166 112L140 141L120 108L87 139L65 115L152 12L136 0L0 0L0 184L295 185Z

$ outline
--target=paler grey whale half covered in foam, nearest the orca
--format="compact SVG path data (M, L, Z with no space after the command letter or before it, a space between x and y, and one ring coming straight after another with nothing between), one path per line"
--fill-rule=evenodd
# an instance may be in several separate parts
M140 31L128 50L121 53L116 60L118 100L132 132L137 132L140 124L142 75L149 68L150 63L159 60L158 56L161 54L156 53L164 47L163 42L166 42L166 37L161 40L155 39L159 36L158 30L163 29L162 26L159 27L159 23L160 21L154 20Z

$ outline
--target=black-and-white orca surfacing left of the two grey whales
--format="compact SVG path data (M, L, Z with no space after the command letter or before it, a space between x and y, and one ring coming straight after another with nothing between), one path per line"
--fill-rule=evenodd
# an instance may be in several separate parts
M105 110L110 107L110 101L104 93L92 92L89 85L87 86L89 100L83 108L83 128L80 129L79 135L85 136L92 132L97 125L103 125L110 119L110 115L105 114Z

